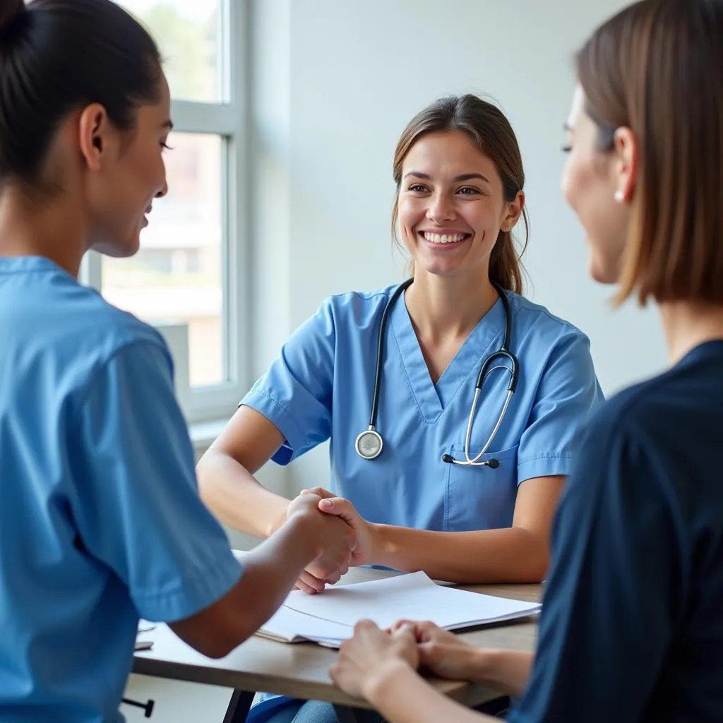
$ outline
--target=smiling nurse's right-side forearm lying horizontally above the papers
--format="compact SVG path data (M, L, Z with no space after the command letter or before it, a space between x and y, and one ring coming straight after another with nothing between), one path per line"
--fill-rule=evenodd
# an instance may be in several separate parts
M547 571L547 541L522 528L437 532L375 525L375 540L373 564L424 570L450 582L536 583Z

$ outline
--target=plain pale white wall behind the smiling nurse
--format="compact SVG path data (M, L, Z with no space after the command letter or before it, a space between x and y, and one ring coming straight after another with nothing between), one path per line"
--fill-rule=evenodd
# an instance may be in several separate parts
M250 1L255 374L328 294L401 278L389 232L396 140L427 103L467 91L496 98L521 142L530 296L590 336L606 392L664 365L654 313L613 314L609 289L587 278L559 190L573 52L623 0ZM325 449L261 479L281 492L326 484ZM157 699L157 723L220 723L228 701L228 691L139 676L129 694Z

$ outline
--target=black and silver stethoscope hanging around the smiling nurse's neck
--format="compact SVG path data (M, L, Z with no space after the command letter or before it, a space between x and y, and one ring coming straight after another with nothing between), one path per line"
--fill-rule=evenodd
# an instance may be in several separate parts
M384 448L384 440L382 440L382 435L377 432L376 428L377 411L379 409L379 394L382 382L384 338L386 336L390 309L393 307L394 302L399 298L399 296L403 294L404 290L408 288L408 286L412 283L412 281L414 281L413 278L408 278L406 281L403 281L397 288L395 288L394 293L392 294L392 296L390 296L389 301L387 301L387 304L384 307L384 312L382 313L382 322L379 328L379 339L377 341L377 372L374 380L374 394L372 395L372 414L369 416L369 427L367 427L367 429L364 429L364 432L360 432L359 435L357 435L356 440L354 441L354 448L356 449L356 453L362 459L376 459L382 453L382 449ZM450 464L459 464L463 466L489 467L490 469L497 469L497 467L500 466L499 460L487 459L484 461L480 461L480 458L487 453L489 446L492 445L492 440L495 439L495 435L497 435L497 432L502 425L502 420L505 419L507 408L508 406L510 406L510 399L515 393L515 388L517 387L519 364L517 361L517 357L510 351L510 336L512 335L512 310L510 309L510 301L507 298L505 291L503 291L500 286L497 286L497 284L492 284L492 286L495 286L497 294L500 295L502 306L505 307L505 337L502 339L502 346L500 347L500 349L498 351L492 352L492 354L490 354L487 359L484 360L482 368L479 369L479 375L477 375L477 383L474 387L474 399L472 400L472 406L469 410L469 419L467 420L467 434L464 440L465 459L459 460L455 459L452 455L445 454L442 455L442 461ZM501 362L504 360L510 362L509 367L507 364L504 363L495 364L495 362ZM495 366L492 366L492 364L495 364ZM492 429L492 432L487 438L487 442L485 442L484 447L482 448L482 452L472 458L469 452L469 442L472 436L472 423L474 422L474 414L477 410L479 393L482 392L482 384L487 378L487 375L489 375L489 373L494 371L495 369L505 369L505 371L510 372L510 384L507 388L507 396L505 397L505 403L502 406L500 416L497 417L497 424L495 424L495 427Z

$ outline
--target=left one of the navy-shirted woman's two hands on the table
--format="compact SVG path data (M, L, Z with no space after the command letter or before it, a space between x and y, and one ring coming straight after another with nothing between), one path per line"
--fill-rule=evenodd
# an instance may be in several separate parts
M354 627L354 637L341 643L329 675L348 695L368 698L367 690L400 666L411 669L419 666L414 628L401 625L387 632L371 620L361 620Z

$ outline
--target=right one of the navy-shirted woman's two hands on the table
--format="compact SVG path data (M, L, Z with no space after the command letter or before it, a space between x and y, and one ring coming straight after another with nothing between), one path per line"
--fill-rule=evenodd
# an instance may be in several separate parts
M449 630L434 623L400 620L392 630L414 630L419 651L419 664L439 677L450 680L475 680L479 677L479 662L484 650L471 646Z

